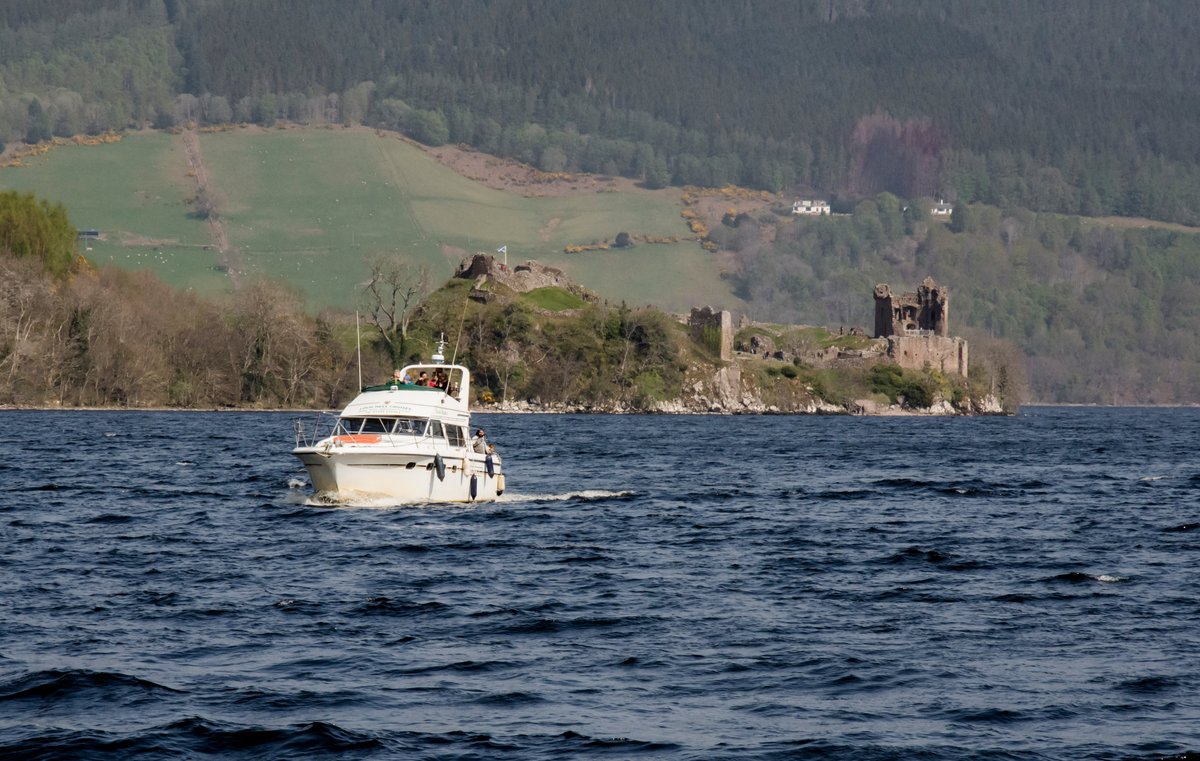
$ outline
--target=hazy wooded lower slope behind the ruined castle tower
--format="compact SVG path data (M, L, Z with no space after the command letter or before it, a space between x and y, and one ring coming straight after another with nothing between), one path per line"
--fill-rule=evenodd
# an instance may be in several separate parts
M960 205L950 222L889 193L852 215L743 217L713 236L756 316L874 325L871 288L949 287L950 329L1028 358L1040 402L1200 399L1200 235ZM998 347L997 347L998 348Z

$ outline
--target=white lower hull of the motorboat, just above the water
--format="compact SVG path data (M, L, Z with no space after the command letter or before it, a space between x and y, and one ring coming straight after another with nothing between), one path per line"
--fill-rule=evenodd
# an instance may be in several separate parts
M293 454L308 471L318 496L334 501L486 502L503 491L498 462L493 460L493 475L488 475L481 457L443 456L439 478L433 457L424 454L325 453L317 448L298 448Z

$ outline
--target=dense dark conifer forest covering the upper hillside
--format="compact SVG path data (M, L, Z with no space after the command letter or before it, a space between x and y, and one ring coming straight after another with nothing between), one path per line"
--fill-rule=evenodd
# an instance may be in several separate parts
M1200 223L1187 0L10 0L0 140L366 122L542 169Z

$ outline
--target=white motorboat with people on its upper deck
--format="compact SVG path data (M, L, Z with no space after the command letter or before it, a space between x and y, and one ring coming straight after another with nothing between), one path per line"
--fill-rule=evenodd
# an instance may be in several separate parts
M319 498L475 502L504 493L499 454L472 436L470 371L444 364L443 350L364 388L340 415L295 421L292 454Z

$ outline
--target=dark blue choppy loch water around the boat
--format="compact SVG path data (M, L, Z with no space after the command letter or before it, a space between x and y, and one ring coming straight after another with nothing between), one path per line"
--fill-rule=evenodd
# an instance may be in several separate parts
M0 757L1200 751L1198 411L476 419L504 502L329 509L287 415L0 413Z

